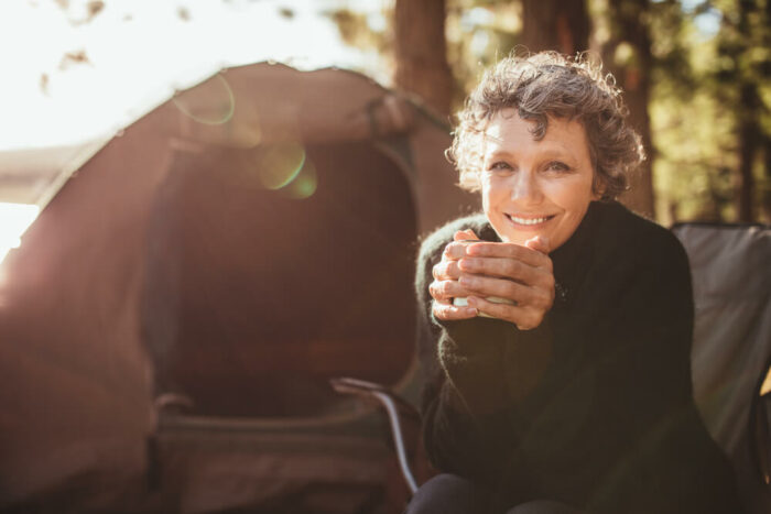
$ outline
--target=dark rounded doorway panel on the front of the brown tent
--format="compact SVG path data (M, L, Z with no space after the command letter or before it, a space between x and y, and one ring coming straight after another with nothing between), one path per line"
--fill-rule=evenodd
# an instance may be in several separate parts
M162 188L143 316L161 391L264 417L323 414L334 376L395 383L415 330L406 178L367 143L306 145L316 190L287 198L260 187L254 153L180 156Z

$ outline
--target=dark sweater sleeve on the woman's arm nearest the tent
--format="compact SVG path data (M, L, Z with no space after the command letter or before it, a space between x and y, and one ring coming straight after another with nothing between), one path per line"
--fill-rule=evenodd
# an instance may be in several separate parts
M459 228L466 227L453 223L426 239L417 262L420 345L431 375L423 397L424 440L439 470L489 483L515 441L517 398L528 389L514 371L524 367L512 345L547 347L549 330L546 324L520 331L493 318L441 321L433 316L432 269Z

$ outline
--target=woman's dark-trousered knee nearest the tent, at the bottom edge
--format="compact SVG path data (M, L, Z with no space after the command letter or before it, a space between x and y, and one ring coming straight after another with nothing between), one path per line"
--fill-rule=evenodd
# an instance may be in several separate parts
M470 481L442 473L417 489L405 514L476 514L482 501L484 495Z

